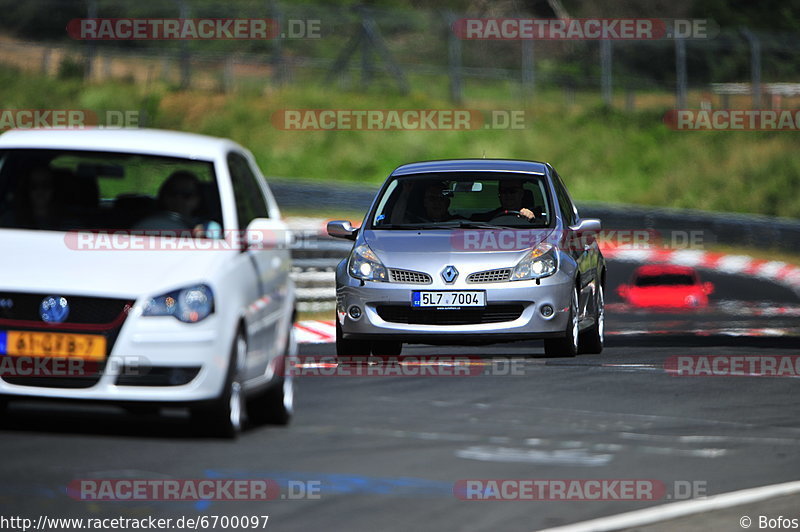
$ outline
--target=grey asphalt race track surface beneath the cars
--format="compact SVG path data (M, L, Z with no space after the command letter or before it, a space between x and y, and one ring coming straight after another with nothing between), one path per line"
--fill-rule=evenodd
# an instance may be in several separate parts
M267 530L287 531L529 531L666 504L689 496L686 486L712 495L795 480L800 380L683 377L664 363L684 355L798 355L800 298L766 281L701 271L716 285L711 309L632 310L614 288L634 266L610 263L602 355L548 359L539 342L410 346L404 354L468 355L486 372L502 373L512 362L521 371L300 377L292 424L255 427L236 442L192 436L177 411L14 403L0 439L0 513L269 515ZM330 344L301 348L304 356L333 353ZM96 502L67 493L75 480L103 478L268 478L283 498ZM454 487L470 479L651 479L666 493L660 500L461 500ZM297 486L319 491L289 500ZM722 529L740 530L738 517L729 519Z

